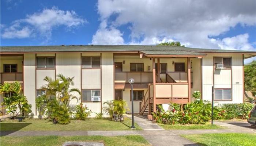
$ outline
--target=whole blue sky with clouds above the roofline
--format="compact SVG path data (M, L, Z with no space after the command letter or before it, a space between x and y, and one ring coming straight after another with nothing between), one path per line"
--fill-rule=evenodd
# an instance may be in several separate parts
M1 0L1 46L155 45L256 50L255 0ZM218 11L216 11L218 10Z

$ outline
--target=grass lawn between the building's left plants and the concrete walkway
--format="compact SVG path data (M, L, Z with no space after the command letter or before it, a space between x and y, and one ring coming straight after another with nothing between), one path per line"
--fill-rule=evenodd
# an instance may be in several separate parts
M82 120L71 120L69 124L53 124L49 119L25 119L23 122L18 120L6 119L1 121L1 131L92 131L92 130L131 130L132 121L125 118L123 123L110 121L109 119L88 118ZM135 124L136 130L142 130Z

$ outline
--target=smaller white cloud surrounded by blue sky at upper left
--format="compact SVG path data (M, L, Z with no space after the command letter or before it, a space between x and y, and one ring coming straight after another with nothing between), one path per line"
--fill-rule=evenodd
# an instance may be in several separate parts
M10 27L3 30L2 38L28 38L31 35L40 34L50 39L55 27L65 26L70 30L86 22L75 11L63 11L52 7L27 15L25 19L15 20Z

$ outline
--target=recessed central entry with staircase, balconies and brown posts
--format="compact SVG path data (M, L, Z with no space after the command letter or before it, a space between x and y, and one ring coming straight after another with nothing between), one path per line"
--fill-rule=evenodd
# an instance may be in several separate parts
M128 79L134 78L135 112L151 115L157 110L157 104L188 103L191 92L201 91L201 58L199 55L114 55L115 99L127 101L131 108L131 85ZM139 99L137 95L143 97Z

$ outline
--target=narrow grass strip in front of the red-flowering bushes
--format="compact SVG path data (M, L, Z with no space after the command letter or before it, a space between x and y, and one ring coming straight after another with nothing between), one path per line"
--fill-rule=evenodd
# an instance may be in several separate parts
M211 124L187 124L187 125L182 125L182 124L175 124L175 125L169 125L169 124L159 124L162 128L165 130L172 130L172 129L177 129L177 130L191 130L191 129L219 129L223 128L221 126L217 125L211 125Z

